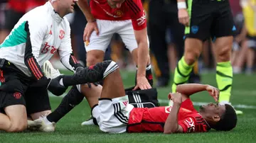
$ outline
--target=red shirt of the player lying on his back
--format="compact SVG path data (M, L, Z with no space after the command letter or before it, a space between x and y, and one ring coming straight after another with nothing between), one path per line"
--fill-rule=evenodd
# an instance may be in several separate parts
M164 132L164 123L170 112L171 106L134 108L129 115L127 132ZM181 103L178 125L181 125L183 132L210 130L203 117L193 108L193 103L189 98Z

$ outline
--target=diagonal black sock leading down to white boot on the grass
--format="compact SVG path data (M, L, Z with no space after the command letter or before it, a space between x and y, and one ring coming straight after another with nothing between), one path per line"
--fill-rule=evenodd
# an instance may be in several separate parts
M50 122L58 122L63 118L70 110L72 110L75 105L82 102L84 96L78 91L78 89L73 86L68 94L63 98L58 108L56 108L53 113L47 115L47 120Z

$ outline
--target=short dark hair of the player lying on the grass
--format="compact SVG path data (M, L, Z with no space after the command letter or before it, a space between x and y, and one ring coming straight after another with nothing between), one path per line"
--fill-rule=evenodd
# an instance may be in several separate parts
M228 104L225 104L225 113L220 117L220 120L214 125L213 129L229 131L232 130L238 122L235 109Z

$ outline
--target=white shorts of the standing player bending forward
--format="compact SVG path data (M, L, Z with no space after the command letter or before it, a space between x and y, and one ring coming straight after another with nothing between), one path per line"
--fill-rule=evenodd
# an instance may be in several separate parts
M90 50L102 50L105 52L107 50L107 46L110 45L110 41L114 33L120 35L125 47L129 50L129 52L132 52L138 47L131 20L106 21L97 19L96 22L99 28L99 35L96 35L95 31L92 32L89 45L86 46L85 44L86 52Z

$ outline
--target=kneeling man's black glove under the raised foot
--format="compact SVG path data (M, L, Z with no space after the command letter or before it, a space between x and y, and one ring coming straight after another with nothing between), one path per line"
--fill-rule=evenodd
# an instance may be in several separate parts
M61 96L68 87L60 85L60 79L63 78L63 75L56 77L55 79L51 79L48 84L48 90L53 93L55 96Z

